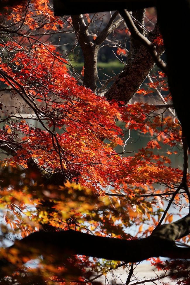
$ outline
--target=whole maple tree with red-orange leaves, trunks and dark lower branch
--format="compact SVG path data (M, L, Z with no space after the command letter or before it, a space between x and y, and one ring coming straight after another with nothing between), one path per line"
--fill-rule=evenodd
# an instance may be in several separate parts
M160 59L165 41L158 24L147 30L146 15L115 11L101 30L103 16L100 26L96 14L55 16L48 0L1 11L2 284L93 284L119 267L129 284L134 263L146 259L165 272L160 279L188 284L188 138ZM110 40L117 29L130 39L129 51ZM83 52L81 74L51 43L68 31ZM111 87L107 79L97 88L107 40L127 61ZM162 104L129 103L135 94L157 94ZM148 139L135 153L127 151L134 131ZM183 169L172 167L175 155L184 156Z

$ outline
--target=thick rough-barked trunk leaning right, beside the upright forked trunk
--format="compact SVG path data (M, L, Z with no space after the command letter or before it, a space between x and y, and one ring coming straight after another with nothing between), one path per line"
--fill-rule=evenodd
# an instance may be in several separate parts
M156 24L154 30L149 32L148 40L152 42L159 35L160 30ZM163 51L163 46L157 46L158 55L162 54ZM115 83L106 92L105 97L108 100L115 99L125 103L129 102L154 64L149 51L146 47L141 46L136 56L125 66L125 69L119 74Z

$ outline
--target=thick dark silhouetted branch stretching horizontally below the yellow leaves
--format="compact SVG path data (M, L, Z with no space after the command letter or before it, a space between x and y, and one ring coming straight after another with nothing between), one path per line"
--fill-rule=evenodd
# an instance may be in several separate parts
M44 258L51 255L57 260L72 254L80 254L124 262L139 262L150 257L189 258L190 248L178 248L175 240L190 232L190 214L172 224L164 224L156 228L151 236L140 240L123 240L84 234L78 231L35 232L6 249L6 255L18 251L20 261L14 265L5 258L0 260L3 277L7 270L14 271L38 255ZM51 260L52 261L52 260ZM11 265L11 266L10 266ZM7 269L8 268L8 269Z

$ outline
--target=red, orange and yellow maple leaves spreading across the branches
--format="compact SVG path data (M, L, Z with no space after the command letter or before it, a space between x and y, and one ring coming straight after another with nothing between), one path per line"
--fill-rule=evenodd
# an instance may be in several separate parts
M184 175L170 160L182 154L178 119L159 105L108 101L78 83L82 76L71 73L58 47L46 43L50 31L72 25L70 18L54 16L48 1L5 7L0 17L2 248L6 238L39 230L74 229L129 240L149 236ZM154 43L163 44L161 35ZM118 48L117 55L123 54L126 50ZM153 83L137 94L160 89L167 93L165 103L171 103L166 75L158 71L151 78ZM4 103L5 96L13 106ZM127 138L134 133L148 143L126 155ZM187 194L179 191L177 214L187 202ZM172 220L172 212L167 213L165 223ZM130 230L134 225L135 232ZM2 249L1 255L20 265L17 252L7 256ZM122 261L76 255L59 262L39 257L34 268L20 267L7 284L91 284L94 274L106 274ZM159 259L151 262L160 264Z

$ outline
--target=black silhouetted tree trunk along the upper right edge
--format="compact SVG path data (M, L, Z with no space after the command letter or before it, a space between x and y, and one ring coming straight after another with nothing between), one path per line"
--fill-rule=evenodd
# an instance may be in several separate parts
M182 0L180 5L182 19L178 16L178 22L176 17L179 6L177 4L170 5L165 1L158 1L157 8L158 21L166 48L168 83L174 108L190 149L189 104L185 103L189 97L189 72L184 70L190 66L189 44L187 44L190 29L190 1Z

